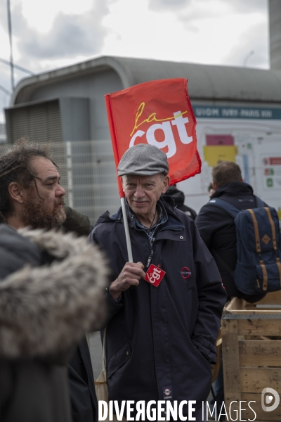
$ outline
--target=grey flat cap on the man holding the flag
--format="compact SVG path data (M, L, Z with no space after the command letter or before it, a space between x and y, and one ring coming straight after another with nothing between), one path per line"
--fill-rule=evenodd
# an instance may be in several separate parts
M158 173L165 176L169 173L168 160L163 151L149 143L138 143L127 149L118 165L118 176L153 176Z

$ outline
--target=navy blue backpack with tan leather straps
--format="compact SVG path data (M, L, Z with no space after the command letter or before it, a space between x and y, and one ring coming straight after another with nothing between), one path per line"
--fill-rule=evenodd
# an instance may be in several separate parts
M222 199L211 199L234 218L237 236L237 264L231 271L235 286L246 295L281 289L281 236L275 208L265 207L256 197L256 208L239 210ZM217 255L217 252L216 252ZM220 259L220 261L222 261Z

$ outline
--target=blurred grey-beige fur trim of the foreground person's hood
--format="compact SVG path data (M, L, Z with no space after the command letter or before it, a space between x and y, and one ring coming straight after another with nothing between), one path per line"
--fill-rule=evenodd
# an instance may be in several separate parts
M98 248L73 234L24 229L13 236L24 236L27 248L31 241L55 260L28 264L0 281L0 357L67 356L86 331L103 323L107 263ZM8 252L16 258L18 251Z

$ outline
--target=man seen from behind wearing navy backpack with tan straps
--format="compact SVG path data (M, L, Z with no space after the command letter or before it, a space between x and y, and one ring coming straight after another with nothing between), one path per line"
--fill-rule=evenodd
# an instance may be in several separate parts
M247 302L261 300L281 285L277 213L244 183L239 165L221 161L212 171L214 193L195 219L226 288ZM217 409L223 402L223 368L214 390Z

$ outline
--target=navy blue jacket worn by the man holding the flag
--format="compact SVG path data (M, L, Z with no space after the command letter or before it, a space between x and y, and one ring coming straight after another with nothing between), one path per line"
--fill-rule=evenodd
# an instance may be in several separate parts
M168 217L153 243L152 263L166 275L158 287L141 279L116 302L108 293L107 378L110 400L196 400L207 398L211 364L226 293L216 264L195 223L160 198ZM145 265L150 242L144 229L129 217L134 262ZM90 241L107 252L112 281L128 260L122 210L105 212ZM190 273L190 274L188 274Z

